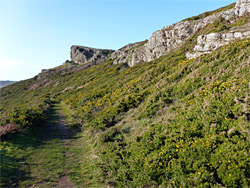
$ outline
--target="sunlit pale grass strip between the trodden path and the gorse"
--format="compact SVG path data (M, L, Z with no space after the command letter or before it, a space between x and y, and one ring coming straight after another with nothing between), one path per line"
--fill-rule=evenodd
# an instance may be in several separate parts
M68 176L78 187L101 187L103 183L102 171L97 161L98 159L98 137L91 132L79 132L79 124L72 118L74 112L65 103L61 104L63 116L71 131L76 133L71 137L73 140L67 152L67 163L71 164Z

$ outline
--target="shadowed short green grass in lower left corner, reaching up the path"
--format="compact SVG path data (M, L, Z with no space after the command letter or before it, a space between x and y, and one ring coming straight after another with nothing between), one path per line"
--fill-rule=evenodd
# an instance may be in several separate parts
M2 140L1 186L53 187L70 169L65 157L67 147L57 128L60 108L58 104L52 105L44 127L26 129Z

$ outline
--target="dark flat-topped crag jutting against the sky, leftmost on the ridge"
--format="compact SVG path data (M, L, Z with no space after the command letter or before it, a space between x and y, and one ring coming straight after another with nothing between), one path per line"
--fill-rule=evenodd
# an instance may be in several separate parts
M114 50L103 50L85 46L71 46L71 60L77 64L90 62L101 62L105 60Z

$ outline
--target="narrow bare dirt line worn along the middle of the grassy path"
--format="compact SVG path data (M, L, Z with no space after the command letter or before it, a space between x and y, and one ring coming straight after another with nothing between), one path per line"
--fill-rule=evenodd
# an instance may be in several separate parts
M70 145L70 139L69 139L69 131L66 126L66 121L64 117L62 116L61 111L58 113L59 122L58 122L58 129L62 135L62 141L65 147L68 147ZM65 157L68 156L68 153L65 153ZM67 172L65 172L66 174ZM58 180L58 187L60 188L75 188L75 185L70 182L68 176L62 176Z

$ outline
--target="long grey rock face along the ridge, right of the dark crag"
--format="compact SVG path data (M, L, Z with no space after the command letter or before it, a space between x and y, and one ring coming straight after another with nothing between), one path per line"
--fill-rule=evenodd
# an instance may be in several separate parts
M197 21L182 21L166 26L154 32L147 42L129 44L114 52L111 58L114 59L114 64L127 63L129 66L152 61L177 49L198 29L216 21L219 17L230 19L234 16L234 12L234 9L230 9Z

